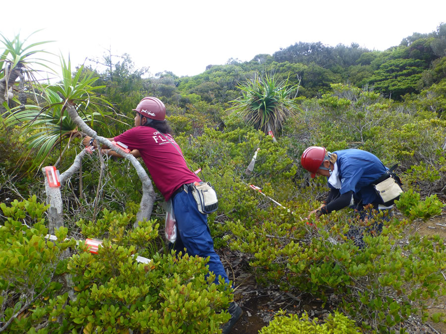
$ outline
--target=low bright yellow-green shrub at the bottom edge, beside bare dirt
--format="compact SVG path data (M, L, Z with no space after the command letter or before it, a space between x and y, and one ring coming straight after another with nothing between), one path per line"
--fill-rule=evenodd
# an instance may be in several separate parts
M342 313L336 312L329 315L326 322L318 324L318 319L308 319L305 313L302 317L296 314L285 315L284 311L279 311L270 324L259 331L259 334L355 334L362 333L355 326L353 320L348 319Z

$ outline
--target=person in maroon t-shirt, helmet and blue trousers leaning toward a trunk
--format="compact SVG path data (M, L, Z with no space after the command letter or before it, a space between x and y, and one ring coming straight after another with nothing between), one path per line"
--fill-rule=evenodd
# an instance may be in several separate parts
M221 276L229 283L220 257L214 250L207 215L198 211L197 202L189 191L191 184L201 180L187 167L180 147L171 136L166 106L160 99L146 96L133 111L136 111L135 127L109 140L127 145L132 155L142 157L158 190L166 201L171 199L178 228L172 247L177 252L186 248L192 256L209 256L209 271L216 275L215 282L218 284ZM87 145L90 140L91 137L87 136L83 143ZM120 157L112 150L105 151ZM229 304L228 311L231 319L223 325L223 333L229 333L242 314L235 302Z

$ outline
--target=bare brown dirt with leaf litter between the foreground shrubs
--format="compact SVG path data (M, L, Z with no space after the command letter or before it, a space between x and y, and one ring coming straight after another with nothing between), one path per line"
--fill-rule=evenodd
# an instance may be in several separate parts
M417 230L420 235L439 234L446 240L446 212L443 216L435 217L422 224ZM257 286L254 277L250 274L250 267L246 261L229 250L223 250L222 261L225 267L230 267L229 279L235 279L234 297L243 310L243 315L232 329L232 334L257 334L261 328L267 326L279 309L286 309L291 313L307 311L312 317L324 319L332 311L327 303L322 308L322 301L308 294L292 295L280 291L277 286ZM235 256L235 259L234 259ZM226 264L230 264L227 265ZM445 273L446 274L446 273ZM446 285L446 277L445 277ZM444 297L439 304L446 303ZM430 312L443 312L445 308L432 308ZM425 325L414 325L417 330L413 333L446 334L444 323L429 322Z

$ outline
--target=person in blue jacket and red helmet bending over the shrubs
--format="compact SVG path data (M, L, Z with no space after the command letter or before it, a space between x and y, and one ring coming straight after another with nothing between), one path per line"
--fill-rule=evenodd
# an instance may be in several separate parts
M324 147L311 146L302 153L301 164L311 172L312 178L316 175L327 177L330 188L324 204L310 215L320 217L334 210L353 206L359 211L360 219L367 221L371 217L372 206L377 211L384 211L386 219L390 216L392 206L384 205L373 186L388 171L376 155L360 149L344 149L332 153ZM364 209L366 205L370 209ZM380 222L377 226L378 233L382 227L383 223ZM351 231L350 237L363 245L362 233Z

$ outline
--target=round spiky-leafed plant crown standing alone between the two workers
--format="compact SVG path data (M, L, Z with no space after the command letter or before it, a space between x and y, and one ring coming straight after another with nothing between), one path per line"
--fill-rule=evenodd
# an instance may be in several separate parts
M241 96L231 101L234 105L229 110L265 133L272 130L277 134L285 120L299 110L293 101L299 85L291 84L288 78L280 80L257 73L237 88Z

